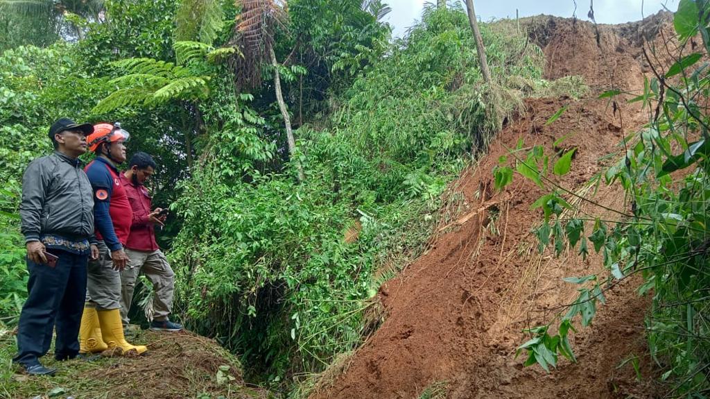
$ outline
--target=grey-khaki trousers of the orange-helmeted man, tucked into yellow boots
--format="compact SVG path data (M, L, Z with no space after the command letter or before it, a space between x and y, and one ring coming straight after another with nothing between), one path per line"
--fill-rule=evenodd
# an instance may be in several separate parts
M109 247L99 241L99 258L87 267L87 302L96 303L97 310L121 307L121 276L114 270Z

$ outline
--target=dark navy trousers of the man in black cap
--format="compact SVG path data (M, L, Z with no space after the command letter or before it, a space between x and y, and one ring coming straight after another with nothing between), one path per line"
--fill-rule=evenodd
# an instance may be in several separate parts
M55 268L27 260L28 297L17 329L18 353L12 359L23 366L39 364L38 358L47 354L55 324L55 358L68 359L79 353L89 256L57 249L47 251L59 256Z

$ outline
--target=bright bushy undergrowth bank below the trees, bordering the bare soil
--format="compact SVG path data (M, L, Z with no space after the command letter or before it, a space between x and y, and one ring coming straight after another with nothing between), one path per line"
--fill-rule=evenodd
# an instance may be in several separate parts
M195 170L175 204L185 223L172 256L192 327L222 337L246 364L269 365L263 371L275 381L318 371L359 344L381 283L373 273L388 253L421 250L446 183L499 123L486 106L467 23L461 10L427 11L391 55L334 99L329 119L302 126L305 184L291 168L257 173L244 168L243 155L226 158L229 140L207 151L222 156ZM541 79L539 49L506 63L524 40L488 31L484 38L493 62L508 68L498 74ZM252 140L241 130L231 138L237 146ZM249 179L229 179L234 170ZM348 243L355 223L359 238Z

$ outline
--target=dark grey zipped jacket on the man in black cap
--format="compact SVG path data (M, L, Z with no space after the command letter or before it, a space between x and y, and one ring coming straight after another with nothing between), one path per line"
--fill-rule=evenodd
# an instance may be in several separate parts
M25 242L41 234L92 239L94 197L80 160L60 152L33 160L22 178L20 216Z

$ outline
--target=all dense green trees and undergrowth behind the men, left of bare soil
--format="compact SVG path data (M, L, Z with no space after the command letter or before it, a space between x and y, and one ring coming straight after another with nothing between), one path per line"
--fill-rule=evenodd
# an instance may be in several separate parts
M258 65L249 85L231 1L102 10L52 17L78 38L0 57L0 327L25 295L23 168L51 151L45 132L60 116L121 121L129 155L160 165L154 204L173 210L158 238L177 276L175 317L242 356L252 381L315 373L358 346L381 319L371 298L442 217L447 183L523 97L552 87L539 48L486 25L495 82L484 84L457 7L425 10L392 43L380 1L290 1L288 25L273 29L278 65Z

